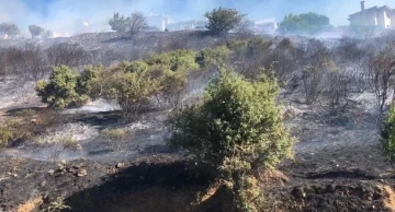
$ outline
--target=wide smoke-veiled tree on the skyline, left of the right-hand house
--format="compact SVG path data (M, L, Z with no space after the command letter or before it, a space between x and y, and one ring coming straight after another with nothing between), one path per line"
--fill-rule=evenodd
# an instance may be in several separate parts
M280 23L282 34L315 35L329 28L329 17L317 13L287 14Z

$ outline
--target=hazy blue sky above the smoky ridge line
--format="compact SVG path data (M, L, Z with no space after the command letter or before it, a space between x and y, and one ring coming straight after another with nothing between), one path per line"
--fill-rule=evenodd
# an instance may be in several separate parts
M395 0L366 0L366 8L384 4L395 8ZM235 8L252 20L281 21L287 13L312 11L329 16L335 25L346 25L348 14L360 10L360 0L0 0L0 22L14 22L24 32L37 24L69 36L109 31L106 22L114 12L128 15L138 10L183 21L203 19L216 7Z

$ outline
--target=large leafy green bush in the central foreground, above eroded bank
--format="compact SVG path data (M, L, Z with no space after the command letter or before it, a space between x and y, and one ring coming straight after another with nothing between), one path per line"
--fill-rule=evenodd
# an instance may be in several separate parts
M253 202L260 191L253 174L292 156L294 139L282 122L278 94L272 78L251 82L221 71L208 84L202 105L169 119L169 143L218 169L242 211L257 211Z

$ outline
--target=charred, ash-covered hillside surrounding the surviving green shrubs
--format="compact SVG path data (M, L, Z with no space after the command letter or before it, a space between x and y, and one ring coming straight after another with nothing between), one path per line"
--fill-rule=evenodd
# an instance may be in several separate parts
M263 211L395 210L394 172L382 155L379 131L393 94L391 86L374 85L377 64L372 62L395 56L393 37L134 36L83 34L29 44L38 49L30 54L46 58L37 69L26 69L35 59L11 62L12 51L29 54L26 42L0 44L0 59L9 61L0 69L0 125L15 138L0 151L0 209L232 211L216 173L167 142L168 116L198 105L205 85L226 66L246 79L256 79L262 67L272 71L284 123L297 140L293 160L257 174L267 200ZM59 44L71 45L71 59L48 55ZM179 56L182 66L167 59ZM185 73L183 86L154 93L132 109L120 98L100 96L103 92L81 106L53 109L34 89L60 61L79 74L88 64L103 64L98 83L103 89L105 79L128 66L122 60L136 59L155 76L166 74L160 69L171 61L171 71ZM383 101L377 92L384 90Z

